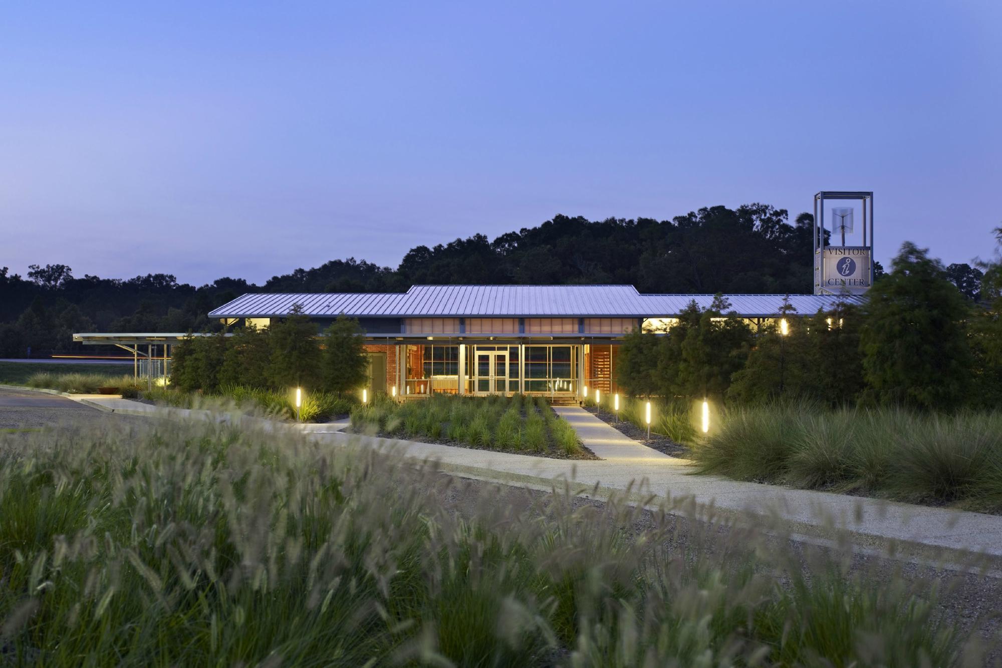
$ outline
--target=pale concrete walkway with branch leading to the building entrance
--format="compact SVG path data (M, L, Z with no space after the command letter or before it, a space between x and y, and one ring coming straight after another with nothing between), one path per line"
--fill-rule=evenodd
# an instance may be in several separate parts
M131 414L209 416L207 411L162 409L119 397L91 396L80 400L104 410ZM641 445L582 408L558 406L555 409L602 460L553 459L358 436L344 433L342 429L347 426L344 421L292 425L292 428L333 444L392 446L407 456L436 459L447 471L503 483L545 487L554 483L562 486L568 481L578 493L589 492L595 487L599 488L599 494L603 490L604 493L639 490L661 499L684 497L698 504L712 504L724 512L778 517L788 522L795 533L817 538L834 536L833 528L840 527L856 534L857 542L863 545L869 538L871 545L880 548L886 548L889 541L902 541L913 546L969 550L1002 557L1000 516L740 482L715 475L692 475L686 460Z

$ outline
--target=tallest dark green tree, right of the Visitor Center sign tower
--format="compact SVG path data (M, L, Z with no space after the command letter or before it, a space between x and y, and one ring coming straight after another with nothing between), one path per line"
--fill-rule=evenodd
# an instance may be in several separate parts
M863 371L880 403L947 410L966 398L970 310L928 249L905 242L869 293L860 335Z

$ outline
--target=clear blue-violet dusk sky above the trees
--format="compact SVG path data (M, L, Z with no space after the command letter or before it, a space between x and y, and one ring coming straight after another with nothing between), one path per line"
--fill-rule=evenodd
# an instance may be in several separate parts
M8 3L0 267L261 283L556 214L1002 225L1002 3Z

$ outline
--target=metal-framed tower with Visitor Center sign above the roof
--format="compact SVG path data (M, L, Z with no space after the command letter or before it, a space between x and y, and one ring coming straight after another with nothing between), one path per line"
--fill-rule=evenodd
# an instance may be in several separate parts
M827 200L850 200L861 204L862 245L846 245L847 239L851 244L860 243L860 235L855 231L853 207L832 207L829 210L831 237L826 239L829 232L825 225ZM874 194L862 191L822 191L816 194L814 249L816 295L862 295L869 290L874 282Z

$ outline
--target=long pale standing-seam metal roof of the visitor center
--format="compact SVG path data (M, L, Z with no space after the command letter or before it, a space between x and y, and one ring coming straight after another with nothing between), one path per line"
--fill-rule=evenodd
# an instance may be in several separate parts
M747 317L776 315L783 295L725 295ZM839 297L791 295L802 315L830 309ZM845 296L862 304L860 296ZM713 295L641 295L631 285L416 285L406 293L249 293L209 312L211 318L282 317L299 304L311 317L669 317Z

